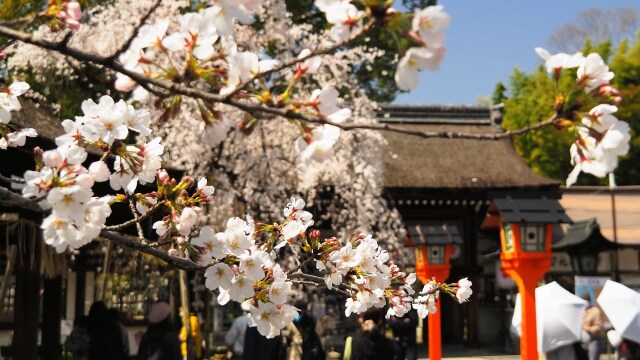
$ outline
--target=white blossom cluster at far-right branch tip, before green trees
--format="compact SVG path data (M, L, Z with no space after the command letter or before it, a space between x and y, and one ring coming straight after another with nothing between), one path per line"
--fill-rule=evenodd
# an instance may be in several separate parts
M604 97L613 103L622 100L619 92L609 84L614 74L599 54L584 56L578 52L551 55L543 48L536 48L535 51L545 61L547 72L553 74L556 81L564 69L578 68L574 92L584 90L597 100ZM567 186L577 181L580 172L605 177L618 166L618 158L629 152L631 129L627 122L613 115L616 111L618 107L615 105L599 104L576 124L577 140L570 149L574 168L567 177Z

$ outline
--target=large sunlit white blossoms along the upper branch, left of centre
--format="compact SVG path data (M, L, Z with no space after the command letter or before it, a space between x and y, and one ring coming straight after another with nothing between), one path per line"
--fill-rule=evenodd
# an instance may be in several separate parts
M230 4L230 3L229 3ZM260 74L271 71L280 65L277 59L261 59L255 52L239 51L233 38L233 32L227 29L223 19L234 16L247 23L251 17L245 17L250 9L257 8L261 2L251 2L251 5L239 5L244 15L230 11L226 2L216 3L212 7L198 13L186 13L180 16L180 28L175 32L168 32L170 22L161 20L152 25L144 25L131 42L129 49L120 55L120 62L130 71L151 77L180 77L191 76L204 81L221 95L232 95L240 91ZM244 6L244 7L243 7ZM349 5L353 6L353 5ZM236 9L237 10L237 9ZM236 14L236 15L233 15ZM225 17L226 16L226 17ZM220 31L220 28L225 29ZM175 54L179 54L184 61L183 68L174 66ZM289 86L280 95L271 94L265 88L264 80L255 91L243 91L245 96L253 96L262 103L278 102L282 105L289 103L298 111L312 113L328 119L334 123L343 123L351 117L350 109L337 106L338 91L335 88L323 88L314 91L308 101L291 99L292 88L305 74L316 74L321 66L321 60L312 56L309 49L303 49L298 58L304 61L296 65L296 72ZM308 57L308 58L307 58ZM184 74L184 75L180 75ZM130 77L118 73L115 87L121 91L134 91L134 99L142 99L147 91ZM181 100L170 103L170 107L179 107ZM202 116L199 132L202 140L209 146L214 146L227 138L231 129L229 121L220 111L203 102L198 103L198 111ZM249 132L257 122L250 118L241 122L238 128ZM296 149L300 154L300 169L306 169L311 161L323 162L333 155L333 145L338 140L340 129L335 126L311 126L300 123L302 136L296 141Z

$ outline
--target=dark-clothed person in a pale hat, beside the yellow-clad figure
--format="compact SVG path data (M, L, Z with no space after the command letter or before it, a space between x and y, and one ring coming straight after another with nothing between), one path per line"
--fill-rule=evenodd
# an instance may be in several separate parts
M178 332L171 323L171 308L157 302L149 312L149 327L142 335L137 360L182 360Z

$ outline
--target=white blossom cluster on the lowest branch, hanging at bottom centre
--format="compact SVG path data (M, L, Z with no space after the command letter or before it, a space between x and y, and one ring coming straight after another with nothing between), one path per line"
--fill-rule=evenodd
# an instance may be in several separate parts
M424 317L435 311L439 291L460 302L471 295L471 282L465 278L455 284L432 281L414 299L412 285L416 275L401 272L371 235L352 236L345 245L336 238L320 241L317 230L307 236L313 220L304 206L302 199L292 198L283 209L282 224L255 223L250 217L246 221L231 218L224 231L216 233L204 226L190 242L198 261L209 266L206 287L218 292L222 305L230 300L253 300L250 326L257 326L262 335L271 338L280 334L298 314L298 309L287 305L287 301L292 295L293 278L301 274L293 272L289 276L274 251L285 245L300 248L307 261L315 261L329 289L348 295L346 316L389 304L387 317L402 316L412 307Z

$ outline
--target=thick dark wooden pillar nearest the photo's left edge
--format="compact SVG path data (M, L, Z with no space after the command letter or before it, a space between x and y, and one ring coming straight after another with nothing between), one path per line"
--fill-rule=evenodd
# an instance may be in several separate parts
M40 320L40 247L39 236L18 239L16 292L13 315L13 358L35 360L38 349Z

